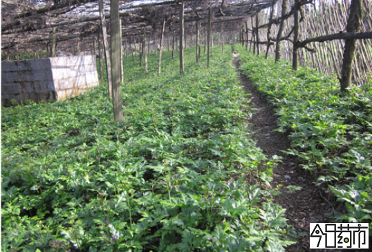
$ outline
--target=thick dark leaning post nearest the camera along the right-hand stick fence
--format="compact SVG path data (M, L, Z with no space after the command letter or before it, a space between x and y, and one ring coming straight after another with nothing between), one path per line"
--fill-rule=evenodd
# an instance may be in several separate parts
M362 0L352 0L350 6L350 14L348 15L348 23L346 32L357 32L360 28L362 20ZM345 41L344 59L342 61L341 72L341 91L345 92L348 86L351 86L351 75L353 74L353 58L355 53L355 39Z

